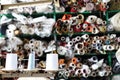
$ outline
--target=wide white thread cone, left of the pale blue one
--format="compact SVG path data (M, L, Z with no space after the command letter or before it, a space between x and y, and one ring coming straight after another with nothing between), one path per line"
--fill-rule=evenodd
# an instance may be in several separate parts
M6 63L5 63L5 70L17 70L18 69L18 61L17 61L17 54L7 54L6 56Z

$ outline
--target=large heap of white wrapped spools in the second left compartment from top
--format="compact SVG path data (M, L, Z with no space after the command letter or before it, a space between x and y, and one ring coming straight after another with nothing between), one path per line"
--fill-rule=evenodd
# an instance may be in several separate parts
M53 18L47 18L46 16L32 18L16 13L12 13L12 16L13 19L8 19L6 16L1 17L1 32L4 31L7 37L20 33L36 34L42 38L49 37L55 23ZM5 27L6 29L4 29Z

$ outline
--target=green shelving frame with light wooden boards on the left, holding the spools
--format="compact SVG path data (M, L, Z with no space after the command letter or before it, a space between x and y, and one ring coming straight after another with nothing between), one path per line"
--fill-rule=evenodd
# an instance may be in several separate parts
M29 3L17 3L17 4L10 4L10 5L1 5L1 7L2 7L2 9L8 9L11 6L12 7L14 7L14 6L15 7L19 7L19 6L26 6L26 5L36 5L36 4L39 4L39 3L45 3L45 2L49 2L49 1L50 0L46 0L46 1L43 0L43 1L29 2ZM40 16L40 15L45 15L45 16L48 16L48 17L52 16L52 18L54 18L55 20L57 20L58 17L60 17L63 14L72 14L72 15L84 14L85 16L89 16L90 14L96 14L96 15L99 15L100 17L105 18L108 21L108 19L110 17L112 17L111 14L114 15L117 12L120 12L120 10L107 11L106 12L106 16L101 16L101 13L98 13L98 14L96 14L96 13L90 13L90 12L84 12L84 13L60 12L60 13L57 13L54 10L53 13L47 13L47 14L45 14L45 13L35 13L35 14L32 14L31 16L34 16L34 17ZM11 14L5 14L5 15L7 15L9 18L12 18ZM27 14L24 14L24 15L27 15ZM2 15L0 15L0 17L1 16ZM75 34L73 34L73 36L83 35L83 34L89 34L89 35L93 35L93 36L95 36L95 35L117 34L119 36L120 32L114 32L113 31L113 32L106 32L106 33L99 33L99 34L91 34L91 33L88 33L88 32L81 32L81 33L75 33ZM40 37L38 37L36 35L20 34L20 35L17 35L17 36L21 37L21 38L25 37L25 38L35 38L35 39L38 39L38 40L41 39ZM61 36L61 35L53 32L53 34L51 34L51 36L48 37L48 38L51 39L51 37L52 37L53 39L57 40L58 36ZM69 36L69 35L68 34L63 34L62 36ZM111 60L112 60L112 55L114 55L114 54L115 54L115 52L108 52L107 54L95 54L95 53L91 53L91 54L86 54L86 55L75 55L75 56L77 56L77 57L84 57L84 56L86 56L86 57L87 56L107 56L108 64L109 64L109 66L112 66L112 61ZM64 58L65 56L59 55L59 57L63 57ZM120 75L120 74L113 74L113 75ZM30 76L34 76L34 77L46 77L46 76L47 77L48 76L49 77L53 77L55 75L54 74L48 74L48 73L29 73L28 74L28 73L24 73L24 72L22 72L22 73L0 73L0 78L4 78L4 77L30 77Z

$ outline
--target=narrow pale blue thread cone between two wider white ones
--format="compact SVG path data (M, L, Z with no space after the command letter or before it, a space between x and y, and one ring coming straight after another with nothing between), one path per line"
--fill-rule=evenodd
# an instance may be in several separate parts
M29 59L28 59L28 70L35 69L35 52L32 52L29 54Z

